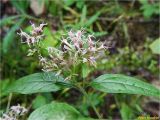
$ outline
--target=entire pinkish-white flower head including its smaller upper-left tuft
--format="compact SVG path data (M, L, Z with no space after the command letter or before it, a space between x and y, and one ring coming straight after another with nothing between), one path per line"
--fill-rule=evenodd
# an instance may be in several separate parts
M84 30L72 31L70 30L60 40L60 47L47 47L48 56L44 57L39 51L40 40L43 39L43 27L47 24L40 24L39 27L35 27L32 23L32 31L30 35L21 30L18 33L22 43L26 43L29 46L29 55L38 53L40 64L43 66L43 71L57 71L57 74L64 71L72 71L75 66L88 64L96 67L97 59L104 54L107 48L104 44L95 42L95 37L86 33Z

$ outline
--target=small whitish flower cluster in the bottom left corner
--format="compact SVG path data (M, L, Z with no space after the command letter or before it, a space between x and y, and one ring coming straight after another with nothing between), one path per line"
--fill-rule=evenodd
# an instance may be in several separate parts
M27 109L18 104L17 106L12 106L8 112L4 113L0 120L18 120L18 117L26 112Z

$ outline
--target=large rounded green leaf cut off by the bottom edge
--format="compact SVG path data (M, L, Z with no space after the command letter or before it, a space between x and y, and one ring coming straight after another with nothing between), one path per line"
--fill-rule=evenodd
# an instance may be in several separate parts
M91 120L66 103L52 102L33 111L28 120Z

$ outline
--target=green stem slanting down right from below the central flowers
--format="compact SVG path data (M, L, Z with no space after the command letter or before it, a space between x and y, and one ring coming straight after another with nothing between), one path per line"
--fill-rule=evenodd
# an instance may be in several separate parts
M97 117L98 117L99 119L102 119L101 115L100 115L99 112L97 111L96 107L93 105L93 103L92 103L92 101L90 100L90 98L89 98L87 92L85 91L85 89L82 88L82 87L80 87L80 86L79 86L78 88L80 89L80 91L84 94L84 96L85 96L85 97L87 98L87 100L89 101L89 103L90 103L91 107L93 108L93 110L95 111Z

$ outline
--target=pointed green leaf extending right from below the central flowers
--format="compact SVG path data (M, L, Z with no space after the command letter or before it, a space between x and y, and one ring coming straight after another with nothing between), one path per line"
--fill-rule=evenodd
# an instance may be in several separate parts
M107 93L140 94L160 96L160 90L136 78L120 74L104 74L96 78L91 86Z

